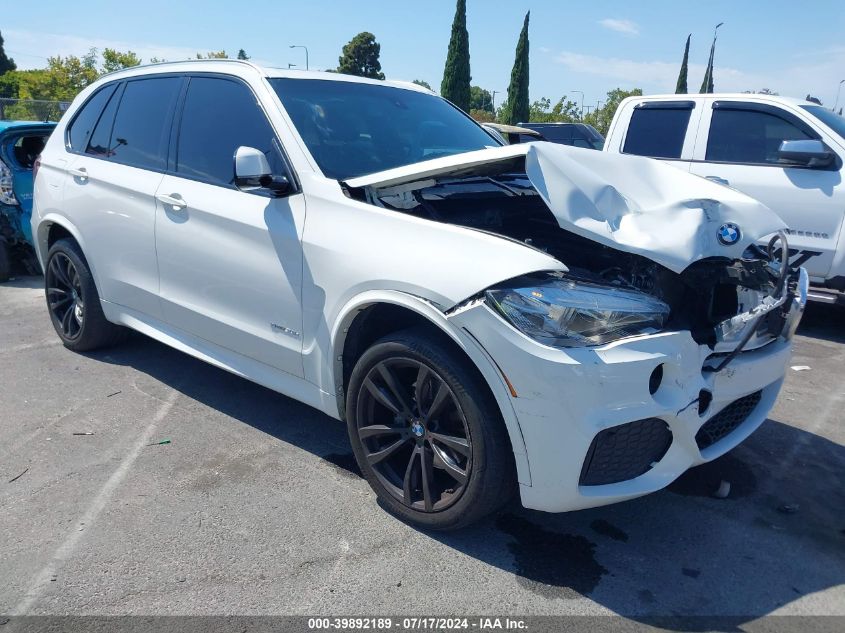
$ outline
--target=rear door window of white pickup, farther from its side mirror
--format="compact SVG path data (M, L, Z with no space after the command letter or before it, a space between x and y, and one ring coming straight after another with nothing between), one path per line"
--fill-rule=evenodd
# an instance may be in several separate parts
M651 101L634 107L624 154L650 158L680 158L693 103Z

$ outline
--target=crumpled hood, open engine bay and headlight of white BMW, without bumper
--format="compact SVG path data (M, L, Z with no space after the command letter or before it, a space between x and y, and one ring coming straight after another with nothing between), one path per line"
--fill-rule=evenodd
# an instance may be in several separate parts
M538 272L483 293L545 345L688 330L712 351L711 370L721 370L741 350L795 331L806 273L789 270L783 232L757 245L783 228L763 205L648 159L546 143L487 153L365 176L347 191L563 262L568 272Z

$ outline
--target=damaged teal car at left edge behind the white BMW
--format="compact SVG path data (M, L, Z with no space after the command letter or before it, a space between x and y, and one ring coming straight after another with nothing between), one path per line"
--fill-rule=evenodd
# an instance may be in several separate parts
M0 121L0 282L13 266L40 269L32 250L32 183L35 161L55 123Z

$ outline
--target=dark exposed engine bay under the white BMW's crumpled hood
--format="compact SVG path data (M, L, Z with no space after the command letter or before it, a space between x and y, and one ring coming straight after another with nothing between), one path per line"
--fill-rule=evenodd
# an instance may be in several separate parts
M689 330L696 342L713 349L723 337L729 338L726 321L755 310L768 297L794 291L795 280L787 283L788 271L782 276L779 251L772 248L767 252L751 246L737 260L707 257L676 273L643 255L577 235L561 228L518 162L508 165L506 173L502 164L495 167L489 174L477 169L464 176L453 172L394 187L350 189L349 194L398 212L519 241L563 262L569 276L657 297L671 307L669 327ZM785 244L780 246L782 250ZM749 336L739 347L760 346L777 337L790 305L791 300L784 300L771 306L779 309L761 314L754 340L749 343Z

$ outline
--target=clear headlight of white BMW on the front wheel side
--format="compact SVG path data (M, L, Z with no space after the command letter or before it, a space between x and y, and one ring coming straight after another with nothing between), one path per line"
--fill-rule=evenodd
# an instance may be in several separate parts
M554 347L654 333L669 317L669 306L645 293L565 276L485 294L516 329Z

